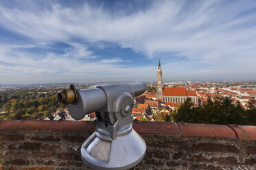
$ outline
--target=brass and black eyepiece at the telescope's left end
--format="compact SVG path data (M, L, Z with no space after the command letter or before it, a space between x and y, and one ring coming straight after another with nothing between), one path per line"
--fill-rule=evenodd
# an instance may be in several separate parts
M77 104L78 95L73 84L70 85L70 89L64 89L58 93L58 101L63 104Z

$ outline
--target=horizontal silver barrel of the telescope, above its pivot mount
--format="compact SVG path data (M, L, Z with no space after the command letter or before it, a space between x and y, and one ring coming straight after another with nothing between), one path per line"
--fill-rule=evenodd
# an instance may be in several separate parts
M76 104L65 103L70 100L69 97L73 97L68 94L69 92L67 92L67 95L65 95L65 92L61 92L64 93L63 99L60 99L59 93L58 100L64 104L69 104L67 107L71 116L76 120L80 120L83 119L86 114L105 108L108 103L107 98L116 97L116 95L122 90L126 90L126 92L134 98L138 95L142 95L142 93L145 92L145 89L145 83L111 84L105 86L97 86L96 88L74 89L76 90L76 94L74 93L74 95L76 95L76 98L78 98ZM64 99L66 100L64 101ZM113 99L111 99L111 101L113 101ZM111 112L111 110L109 110L109 112Z

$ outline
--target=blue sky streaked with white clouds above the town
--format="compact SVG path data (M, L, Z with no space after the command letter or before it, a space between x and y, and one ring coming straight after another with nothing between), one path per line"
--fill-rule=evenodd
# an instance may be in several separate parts
M256 80L256 3L0 1L0 84Z

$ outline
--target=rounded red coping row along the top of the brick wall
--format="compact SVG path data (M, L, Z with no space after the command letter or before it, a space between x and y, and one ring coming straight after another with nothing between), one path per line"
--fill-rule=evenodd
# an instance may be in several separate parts
M135 120L134 130L140 134L171 134L191 137L239 138L256 141L256 126L171 123ZM0 121L0 130L50 130L94 132L95 121Z

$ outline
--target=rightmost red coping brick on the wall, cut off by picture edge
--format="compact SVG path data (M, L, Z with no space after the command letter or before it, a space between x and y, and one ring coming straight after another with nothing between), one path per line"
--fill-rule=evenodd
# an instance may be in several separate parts
M228 125L237 134L237 137L242 140L256 140L256 126L250 125Z

